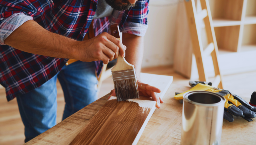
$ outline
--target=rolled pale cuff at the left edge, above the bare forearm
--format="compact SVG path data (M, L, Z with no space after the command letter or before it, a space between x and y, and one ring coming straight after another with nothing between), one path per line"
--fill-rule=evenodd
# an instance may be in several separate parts
M4 40L28 20L33 20L33 17L25 15L24 13L15 13L6 18L0 25L0 45L5 45Z

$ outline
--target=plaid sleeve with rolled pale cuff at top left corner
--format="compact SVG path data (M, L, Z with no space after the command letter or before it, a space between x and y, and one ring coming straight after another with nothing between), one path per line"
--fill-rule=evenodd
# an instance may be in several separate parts
M0 45L19 26L42 15L54 5L53 1L0 0Z

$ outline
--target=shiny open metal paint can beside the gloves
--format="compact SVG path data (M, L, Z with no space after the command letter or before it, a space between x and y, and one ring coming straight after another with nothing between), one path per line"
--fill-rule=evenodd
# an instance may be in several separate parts
M212 92L185 93L181 145L220 145L225 101Z

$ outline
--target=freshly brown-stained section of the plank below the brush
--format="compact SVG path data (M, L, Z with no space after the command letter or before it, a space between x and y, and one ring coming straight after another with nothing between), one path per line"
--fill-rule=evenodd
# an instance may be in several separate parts
M136 102L109 100L81 130L70 145L131 145L139 133L154 101L144 101L148 107Z

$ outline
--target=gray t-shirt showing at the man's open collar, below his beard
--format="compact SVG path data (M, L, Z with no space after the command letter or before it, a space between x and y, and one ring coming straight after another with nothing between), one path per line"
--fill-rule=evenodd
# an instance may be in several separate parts
M111 16L113 10L114 9L110 5L108 5L105 0L98 0L97 9L92 19Z

